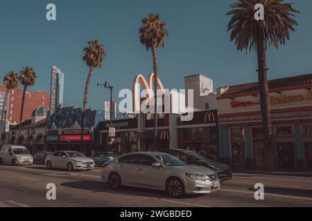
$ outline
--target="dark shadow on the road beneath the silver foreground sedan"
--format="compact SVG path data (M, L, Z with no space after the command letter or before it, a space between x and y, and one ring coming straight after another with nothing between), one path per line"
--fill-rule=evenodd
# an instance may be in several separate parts
M114 190L104 182L94 182L94 181L78 181L78 182L63 182L60 186L66 186L74 189L84 189L92 191L94 193L114 193L120 195L138 195L148 198L166 198L172 199L164 191L142 189L136 187L122 186L121 189ZM187 198L198 198L202 195L185 195L184 199Z

